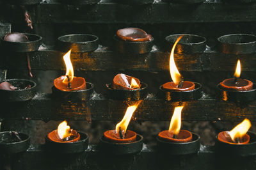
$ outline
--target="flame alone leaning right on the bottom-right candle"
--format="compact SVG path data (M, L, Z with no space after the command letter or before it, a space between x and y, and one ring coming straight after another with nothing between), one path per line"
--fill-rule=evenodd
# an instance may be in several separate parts
M241 139L243 135L246 134L246 132L249 130L251 127L251 122L248 119L244 119L242 123L239 123L236 127L234 127L230 132L229 135L232 139L232 141L236 142L236 139Z

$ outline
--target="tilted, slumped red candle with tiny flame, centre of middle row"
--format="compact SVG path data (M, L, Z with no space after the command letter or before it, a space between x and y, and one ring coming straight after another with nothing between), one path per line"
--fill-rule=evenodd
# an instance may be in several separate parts
M134 90L140 89L140 87L141 84L139 79L125 75L124 73L118 73L113 79L113 89Z

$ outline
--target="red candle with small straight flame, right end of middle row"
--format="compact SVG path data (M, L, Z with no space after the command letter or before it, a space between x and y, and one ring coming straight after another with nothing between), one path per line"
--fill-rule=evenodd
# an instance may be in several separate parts
M253 82L248 81L246 79L240 78L241 74L241 64L240 60L238 59L236 65L236 72L234 73L234 78L232 79L225 79L223 82L220 83L221 88L229 89L231 91L247 91L253 89Z

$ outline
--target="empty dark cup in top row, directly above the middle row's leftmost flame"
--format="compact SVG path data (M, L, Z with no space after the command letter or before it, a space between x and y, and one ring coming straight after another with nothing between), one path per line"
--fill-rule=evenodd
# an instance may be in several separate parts
M76 34L60 36L57 48L62 52L67 52L69 49L72 49L72 52L92 52L97 50L98 46L99 38L97 36Z

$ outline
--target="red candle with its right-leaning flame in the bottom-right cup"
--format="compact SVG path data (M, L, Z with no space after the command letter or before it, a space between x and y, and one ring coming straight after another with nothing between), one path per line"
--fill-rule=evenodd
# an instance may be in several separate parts
M250 135L246 132L251 127L251 122L244 119L242 123L234 127L231 131L224 131L218 134L218 140L228 144L246 144L250 141Z

